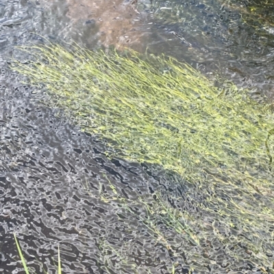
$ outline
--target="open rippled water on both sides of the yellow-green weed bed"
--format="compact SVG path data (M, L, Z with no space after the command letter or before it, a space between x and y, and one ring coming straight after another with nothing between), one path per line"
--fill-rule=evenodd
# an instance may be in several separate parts
M103 15L109 3L95 10L82 2L0 1L0 271L23 273L16 232L36 273L42 267L56 273L58 244L63 273L173 273L173 265L175 273L262 273L247 246L239 242L227 250L213 232L197 248L163 228L167 248L157 233L162 223L155 218L151 232L142 221L149 214L135 202L146 198L153 208L153 193L162 191L182 197L184 209L199 219L192 201L213 193L186 182L174 187L174 179L162 176L158 167L107 159L103 143L81 133L62 113L43 107L44 97L21 84L7 61L15 45L42 42L38 34L53 42L73 39L92 49L129 45L174 55L209 77L217 71L239 86L271 94L271 28L245 24L238 3L139 1L132 7L121 2L109 12L103 9ZM115 20L107 22L112 9ZM222 231L221 223L216 227ZM273 243L268 247L271 262Z

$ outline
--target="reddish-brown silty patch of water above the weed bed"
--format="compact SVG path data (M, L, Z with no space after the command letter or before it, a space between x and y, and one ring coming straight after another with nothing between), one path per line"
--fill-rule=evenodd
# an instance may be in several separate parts
M136 1L135 1L136 2ZM115 46L116 49L130 47L136 51L144 51L146 14L136 10L136 3L117 1L67 0L66 16L72 25L84 22L97 29L95 40L102 46Z

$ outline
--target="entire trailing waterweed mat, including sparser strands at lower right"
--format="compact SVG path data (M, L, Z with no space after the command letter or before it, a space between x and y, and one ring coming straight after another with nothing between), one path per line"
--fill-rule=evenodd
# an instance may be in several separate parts
M144 197L132 201L147 208L143 222L153 234L160 231L158 221L151 221L157 213L157 220L188 241L185 249L195 261L193 246L206 250L213 234L230 258L248 260L263 271L272 269L271 105L258 104L228 83L214 87L199 72L169 57L141 57L134 51L105 54L79 46L68 50L53 44L21 50L28 60L14 60L11 68L47 91L51 107L107 141L105 154L159 166L176 178L174 183L195 186L197 195L190 193L188 202L201 219L182 208L178 213L159 193L153 204ZM113 200L122 202L112 190ZM238 251L239 245L246 254ZM199 261L209 264L210 254Z

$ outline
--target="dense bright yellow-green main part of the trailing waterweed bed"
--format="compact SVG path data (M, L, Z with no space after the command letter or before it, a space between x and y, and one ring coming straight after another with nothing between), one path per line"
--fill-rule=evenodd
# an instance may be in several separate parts
M231 176L250 173L251 163L270 167L265 141L273 115L236 87L219 90L171 57L151 56L149 63L133 51L127 57L52 44L25 51L36 59L11 68L47 90L50 104L83 131L107 139L109 156L194 181L206 167Z

